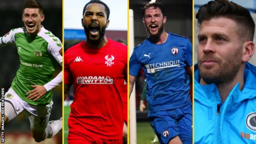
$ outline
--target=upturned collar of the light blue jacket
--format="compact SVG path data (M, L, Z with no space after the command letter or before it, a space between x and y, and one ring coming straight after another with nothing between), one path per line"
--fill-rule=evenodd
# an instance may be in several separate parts
M201 103L213 104L220 103L220 96L217 86L212 83L209 85L200 85L199 83L200 75L198 71L198 65L195 65L195 73L194 73L194 87L195 87L195 99L200 100ZM240 91L238 83L229 93L225 102L228 102L227 106L235 106L238 105L241 101L256 98L256 66L249 64L248 62L245 65L245 73L244 73L245 85ZM214 98L215 97L215 98ZM229 107L231 108L231 107Z

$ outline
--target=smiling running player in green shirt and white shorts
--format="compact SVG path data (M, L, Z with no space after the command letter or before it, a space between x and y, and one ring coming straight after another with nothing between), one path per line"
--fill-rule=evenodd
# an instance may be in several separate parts
M62 129L62 118L49 121L52 89L62 82L62 71L53 78L57 64L62 66L62 43L41 25L44 18L41 4L27 0L22 14L24 27L0 37L0 45L15 43L20 59L11 88L5 93L5 123L25 111L36 142Z

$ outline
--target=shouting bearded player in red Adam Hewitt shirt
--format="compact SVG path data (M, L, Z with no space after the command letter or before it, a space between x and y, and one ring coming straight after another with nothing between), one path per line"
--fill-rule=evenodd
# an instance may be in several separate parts
M65 96L74 85L69 144L122 144L127 46L105 36L109 14L105 3L88 2L82 18L87 39L64 54Z

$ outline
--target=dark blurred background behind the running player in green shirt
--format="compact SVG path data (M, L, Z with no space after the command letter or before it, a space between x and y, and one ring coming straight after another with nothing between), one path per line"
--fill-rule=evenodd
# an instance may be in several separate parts
M37 0L43 5L45 20L42 25L62 41L62 0ZM0 0L0 36L9 30L23 27L22 8L25 0ZM0 87L8 91L19 67L15 44L0 46ZM55 75L61 71L58 66ZM53 89L53 109L50 120L62 117L62 85ZM5 144L36 144L25 113L5 125ZM62 144L62 131L55 137L37 144Z

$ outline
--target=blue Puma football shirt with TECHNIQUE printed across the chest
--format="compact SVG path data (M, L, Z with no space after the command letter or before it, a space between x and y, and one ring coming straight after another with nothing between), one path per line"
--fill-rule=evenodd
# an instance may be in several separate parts
M147 38L134 48L129 65L129 74L135 77L142 67L144 69L150 112L191 103L190 79L185 68L192 66L192 44L186 37L169 33L162 44L152 43Z

